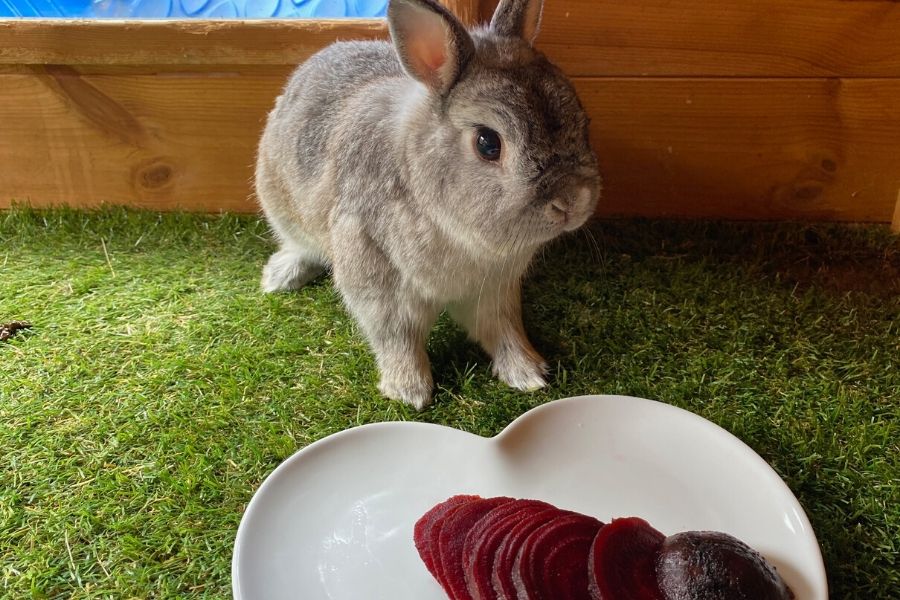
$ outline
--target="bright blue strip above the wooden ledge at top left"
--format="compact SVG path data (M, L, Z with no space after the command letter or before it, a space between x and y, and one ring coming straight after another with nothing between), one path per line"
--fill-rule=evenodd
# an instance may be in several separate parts
M387 0L0 0L2 17L268 19L383 17Z

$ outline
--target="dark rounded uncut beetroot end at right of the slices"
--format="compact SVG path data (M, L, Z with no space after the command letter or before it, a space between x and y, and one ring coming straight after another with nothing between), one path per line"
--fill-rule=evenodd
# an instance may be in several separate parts
M789 600L794 595L756 550L727 533L666 538L656 561L665 600Z

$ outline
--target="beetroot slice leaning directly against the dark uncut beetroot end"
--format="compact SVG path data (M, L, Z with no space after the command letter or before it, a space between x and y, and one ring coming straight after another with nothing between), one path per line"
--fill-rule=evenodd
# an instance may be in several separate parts
M663 600L656 583L662 533L637 517L613 519L600 530L588 560L593 600Z

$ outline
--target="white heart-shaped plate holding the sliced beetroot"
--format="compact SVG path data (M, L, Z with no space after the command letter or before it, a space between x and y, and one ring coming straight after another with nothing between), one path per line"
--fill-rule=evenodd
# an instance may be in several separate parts
M692 413L582 396L531 410L493 438L376 423L297 452L263 482L238 529L236 600L446 600L413 524L454 494L536 498L666 534L711 529L759 550L797 600L827 600L800 504L749 447Z

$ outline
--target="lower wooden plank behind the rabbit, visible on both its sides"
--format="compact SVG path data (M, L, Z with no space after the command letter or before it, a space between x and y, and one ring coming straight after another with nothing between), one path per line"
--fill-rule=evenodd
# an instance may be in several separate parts
M0 75L0 206L253 211L288 73ZM579 79L604 215L889 223L898 79Z

